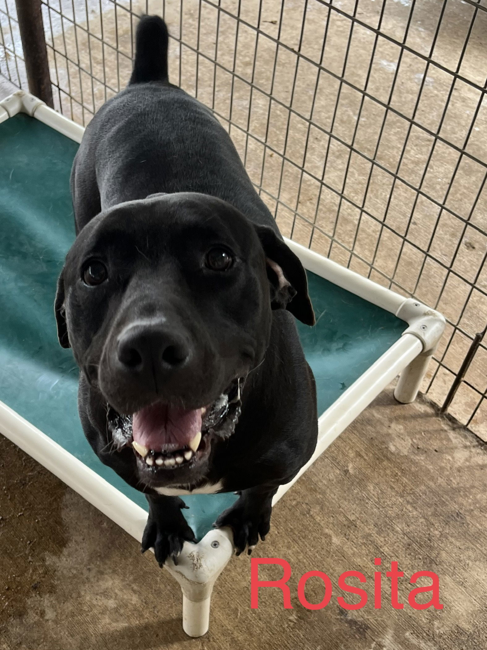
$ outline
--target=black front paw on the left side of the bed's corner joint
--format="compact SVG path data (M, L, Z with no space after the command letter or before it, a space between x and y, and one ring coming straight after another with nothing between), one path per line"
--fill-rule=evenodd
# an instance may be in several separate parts
M160 567L164 562L171 558L174 564L177 564L177 557L182 551L185 541L196 541L194 532L181 517L160 517L149 514L147 524L145 525L144 535L142 536L141 551L144 553L153 548L155 558Z

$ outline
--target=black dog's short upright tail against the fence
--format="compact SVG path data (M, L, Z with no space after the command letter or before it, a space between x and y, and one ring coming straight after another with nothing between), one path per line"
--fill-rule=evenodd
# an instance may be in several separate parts
M142 16L135 36L134 70L129 81L169 81L168 77L169 33L166 23L159 16Z

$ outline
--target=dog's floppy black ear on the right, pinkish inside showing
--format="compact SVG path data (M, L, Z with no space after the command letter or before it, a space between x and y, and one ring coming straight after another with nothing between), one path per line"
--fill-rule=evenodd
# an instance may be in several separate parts
M314 325L308 280L299 257L268 226L254 226L266 253L272 309L287 309L305 325Z

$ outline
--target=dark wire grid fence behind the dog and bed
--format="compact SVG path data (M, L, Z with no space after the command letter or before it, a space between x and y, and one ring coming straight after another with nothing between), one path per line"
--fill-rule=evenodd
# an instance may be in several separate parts
M171 81L214 110L282 233L445 315L422 386L445 402L487 323L487 0L42 0L42 12L55 107L82 124L127 83L138 16L164 16ZM14 0L0 18L0 72L27 89ZM449 413L487 441L475 340Z

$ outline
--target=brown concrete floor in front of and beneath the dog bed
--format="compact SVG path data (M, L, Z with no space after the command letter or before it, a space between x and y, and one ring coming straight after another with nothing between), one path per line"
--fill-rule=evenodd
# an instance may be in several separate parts
M262 589L251 610L250 562L234 558L199 640L182 632L179 586L153 556L3 437L0 454L1 650L487 647L487 447L428 404L402 406L382 393L277 504L255 554L292 565L293 609ZM381 610L373 607L377 556ZM390 604L393 560L406 576L403 610ZM319 611L297 599L297 580L313 569L333 584ZM366 576L369 603L345 612L338 576L351 569ZM438 574L443 610L408 606L408 579L419 570ZM279 571L261 569L261 579ZM321 600L318 580L306 597Z

